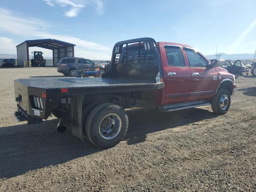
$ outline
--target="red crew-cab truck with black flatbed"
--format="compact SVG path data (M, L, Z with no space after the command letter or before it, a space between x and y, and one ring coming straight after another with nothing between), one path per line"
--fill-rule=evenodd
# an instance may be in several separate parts
M125 108L164 112L212 105L230 108L234 75L193 47L138 38L115 44L111 70L100 78L29 78L14 81L18 121L59 118L57 130L71 123L72 134L101 148L118 144L128 129Z

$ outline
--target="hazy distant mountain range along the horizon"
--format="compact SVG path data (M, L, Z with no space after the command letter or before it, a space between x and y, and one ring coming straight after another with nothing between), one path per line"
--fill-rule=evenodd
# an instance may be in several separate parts
M254 59L254 54L249 54L249 53L244 53L244 54L226 54L226 53L221 53L220 54L220 59L227 59L227 60L247 60L247 59ZM29 56L30 59L32 58L32 55ZM208 59L216 59L216 55L206 55ZM0 54L0 58L17 58L17 54ZM45 57L45 59L52 59L51 57Z

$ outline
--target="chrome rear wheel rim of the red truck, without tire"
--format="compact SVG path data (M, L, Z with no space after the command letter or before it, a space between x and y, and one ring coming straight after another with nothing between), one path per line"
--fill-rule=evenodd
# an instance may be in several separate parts
M99 133L103 139L114 139L122 128L122 120L118 114L110 113L105 115L99 124Z

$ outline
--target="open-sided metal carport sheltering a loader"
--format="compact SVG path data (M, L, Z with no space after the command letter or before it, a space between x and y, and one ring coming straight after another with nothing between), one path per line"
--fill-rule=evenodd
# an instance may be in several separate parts
M19 66L29 66L29 47L41 47L52 50L53 65L58 64L63 57L74 57L75 44L56 39L26 40L16 46Z

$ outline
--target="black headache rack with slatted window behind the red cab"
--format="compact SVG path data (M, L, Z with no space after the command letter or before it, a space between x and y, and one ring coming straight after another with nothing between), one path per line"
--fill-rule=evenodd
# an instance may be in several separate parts
M138 38L117 42L112 52L111 71L102 75L109 76L160 82L162 67L155 40Z

